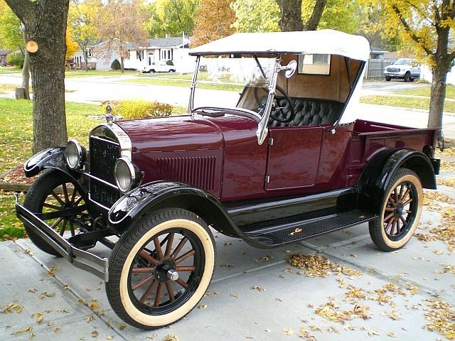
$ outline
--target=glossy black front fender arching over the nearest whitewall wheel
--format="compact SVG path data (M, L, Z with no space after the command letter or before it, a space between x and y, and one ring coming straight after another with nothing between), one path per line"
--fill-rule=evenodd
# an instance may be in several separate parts
M186 183L168 181L141 185L120 198L109 210L109 228L121 234L149 212L169 208L194 212L214 229L228 236L238 237L242 233L213 195Z

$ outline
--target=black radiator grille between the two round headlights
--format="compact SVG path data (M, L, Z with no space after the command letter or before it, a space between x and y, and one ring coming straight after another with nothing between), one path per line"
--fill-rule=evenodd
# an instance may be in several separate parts
M120 157L119 144L90 136L90 175L115 185L114 165ZM121 193L101 181L90 178L90 198L105 207L111 207Z

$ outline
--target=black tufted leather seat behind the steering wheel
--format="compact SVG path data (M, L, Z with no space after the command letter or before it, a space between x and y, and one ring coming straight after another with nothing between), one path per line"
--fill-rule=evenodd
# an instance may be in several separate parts
M290 103L284 97L275 97L278 109L272 114L284 119L291 116ZM340 116L344 103L328 101L324 99L291 98L294 104L296 116L287 123L279 122L272 117L269 118L269 126L320 126L322 124L333 124Z

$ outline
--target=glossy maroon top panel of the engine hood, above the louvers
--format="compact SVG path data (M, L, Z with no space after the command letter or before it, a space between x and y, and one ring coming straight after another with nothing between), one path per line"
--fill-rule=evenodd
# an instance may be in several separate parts
M117 121L132 141L134 153L223 148L216 124L189 115Z

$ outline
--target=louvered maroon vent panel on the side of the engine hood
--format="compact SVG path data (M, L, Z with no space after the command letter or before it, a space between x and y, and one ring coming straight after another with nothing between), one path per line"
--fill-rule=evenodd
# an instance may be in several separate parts
M215 188L215 156L158 158L160 179L182 181L204 190Z

